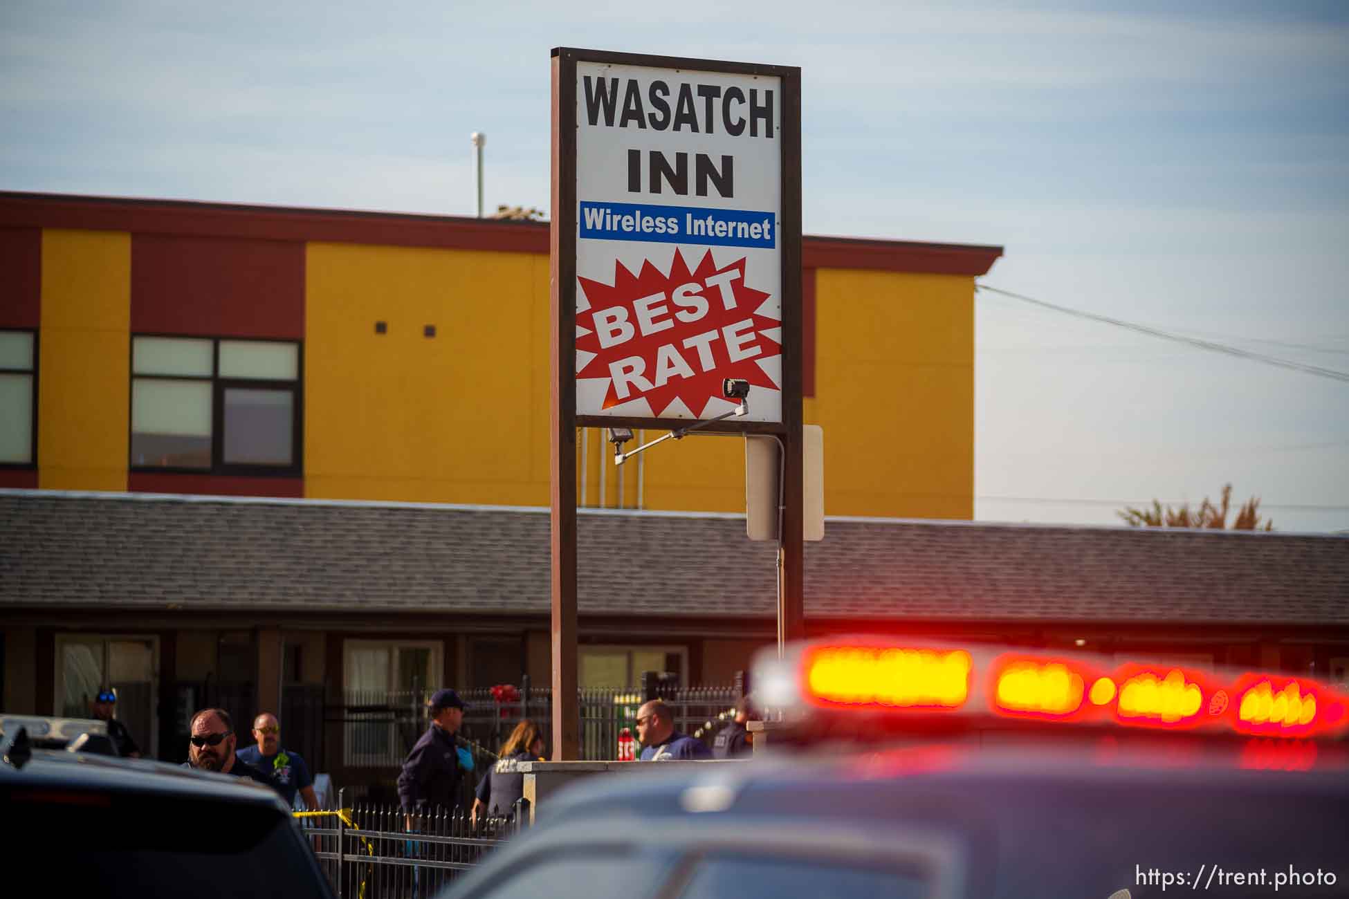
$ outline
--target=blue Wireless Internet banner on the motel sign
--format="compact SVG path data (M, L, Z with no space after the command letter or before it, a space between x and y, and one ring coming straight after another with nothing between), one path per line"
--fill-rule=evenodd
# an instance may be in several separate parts
M777 222L773 221L773 214L766 212L600 204L588 199L583 199L580 206L580 236L591 240L641 240L759 249L772 249L777 245Z

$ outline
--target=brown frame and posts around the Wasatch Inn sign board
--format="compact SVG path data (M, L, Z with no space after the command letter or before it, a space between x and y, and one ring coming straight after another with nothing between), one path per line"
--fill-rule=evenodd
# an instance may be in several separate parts
M804 636L801 497L801 70L715 59L556 47L552 51L552 650L553 757L576 759L580 747L577 706L576 611L576 429L633 427L677 430L689 419L618 418L576 414L576 63L599 62L691 71L776 77L781 85L781 257L782 377L781 422L724 419L701 429L722 434L776 434L785 449L782 512L782 588L778 635ZM696 241L689 241L696 243Z

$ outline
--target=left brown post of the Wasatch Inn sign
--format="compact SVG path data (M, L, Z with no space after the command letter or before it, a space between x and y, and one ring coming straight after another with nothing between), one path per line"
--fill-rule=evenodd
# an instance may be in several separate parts
M552 656L557 762L580 759L576 691L576 59L553 55L552 226Z

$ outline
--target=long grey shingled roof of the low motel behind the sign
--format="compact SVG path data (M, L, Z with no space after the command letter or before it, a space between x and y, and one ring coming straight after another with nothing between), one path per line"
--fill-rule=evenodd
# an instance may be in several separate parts
M583 511L581 615L772 617L735 515ZM830 519L808 617L1349 624L1349 538ZM0 491L0 607L546 615L548 509Z

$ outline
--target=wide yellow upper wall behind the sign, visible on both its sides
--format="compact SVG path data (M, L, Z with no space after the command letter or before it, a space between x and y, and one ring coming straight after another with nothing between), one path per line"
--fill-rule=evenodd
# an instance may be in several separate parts
M546 505L548 276L534 253L310 244L306 496ZM815 384L827 514L973 518L973 278L817 270ZM626 508L745 508L739 437L615 468L588 429L577 452L583 505L618 507L622 478Z

